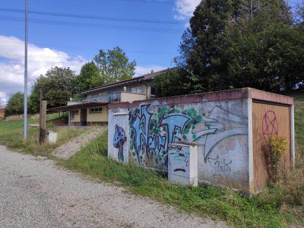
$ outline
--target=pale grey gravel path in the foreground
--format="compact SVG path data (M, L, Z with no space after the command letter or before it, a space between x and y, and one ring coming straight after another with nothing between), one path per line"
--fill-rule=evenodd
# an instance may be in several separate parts
M222 227L0 146L0 227Z

